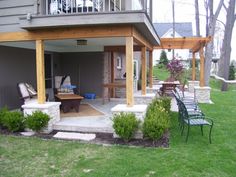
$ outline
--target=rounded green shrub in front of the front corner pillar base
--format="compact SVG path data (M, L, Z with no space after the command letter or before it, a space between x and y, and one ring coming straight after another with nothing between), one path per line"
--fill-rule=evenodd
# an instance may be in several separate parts
M115 133L126 142L129 141L138 129L139 121L133 113L120 113L113 117Z

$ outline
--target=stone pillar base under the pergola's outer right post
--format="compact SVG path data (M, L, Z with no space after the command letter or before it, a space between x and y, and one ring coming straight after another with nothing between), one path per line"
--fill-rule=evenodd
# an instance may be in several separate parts
M194 97L199 103L211 103L211 88L210 87L194 87Z

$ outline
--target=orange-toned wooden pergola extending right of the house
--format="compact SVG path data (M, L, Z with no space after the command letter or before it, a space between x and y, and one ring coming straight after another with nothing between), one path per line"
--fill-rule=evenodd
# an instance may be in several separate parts
M204 46L211 40L211 37L191 37L191 38L162 38L161 45L154 49L189 49L193 53L192 58L192 80L196 80L196 56L200 54L200 87L204 87Z

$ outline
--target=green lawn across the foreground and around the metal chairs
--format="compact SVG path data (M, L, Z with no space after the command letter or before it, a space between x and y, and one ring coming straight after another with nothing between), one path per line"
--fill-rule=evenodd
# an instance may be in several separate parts
M0 176L236 176L236 92L213 90L214 104L202 104L214 120L213 143L208 129L180 136L177 113L172 115L170 147L132 148L73 141L0 135Z

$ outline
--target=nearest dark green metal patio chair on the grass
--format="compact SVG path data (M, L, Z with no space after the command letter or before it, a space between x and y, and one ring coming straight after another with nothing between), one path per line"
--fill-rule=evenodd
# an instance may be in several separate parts
M185 141L188 141L188 136L189 136L189 131L190 131L190 127L191 126L200 126L201 127L201 133L203 136L203 126L210 126L210 130L209 130L209 142L211 143L211 132L212 132L212 127L213 127L213 120L206 118L206 116L203 115L189 115L189 112L185 106L185 104L180 101L179 102L179 113L180 113L180 119L181 119L181 123L182 125L182 130L181 130L181 135L183 135L184 132L184 127L185 124L188 126L187 129L187 135L186 135L186 139Z

